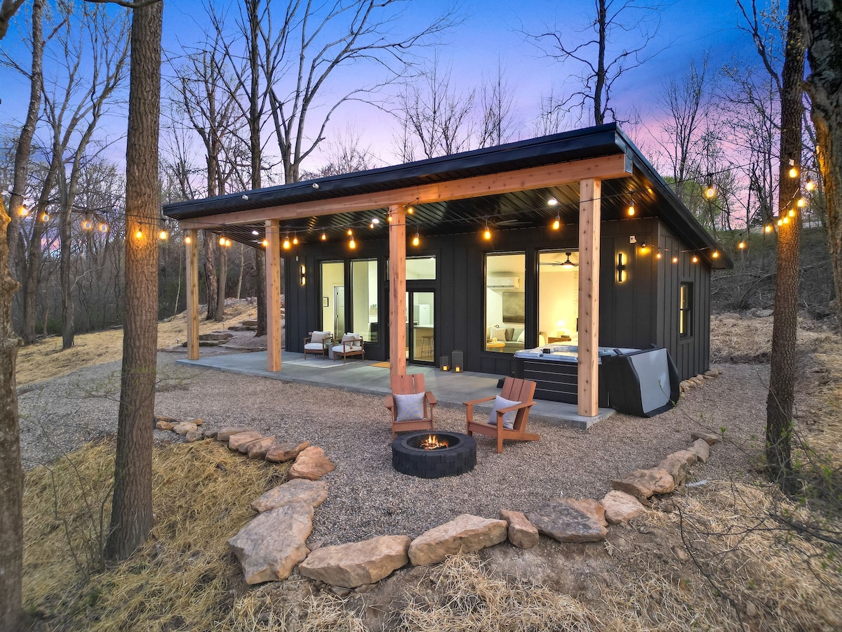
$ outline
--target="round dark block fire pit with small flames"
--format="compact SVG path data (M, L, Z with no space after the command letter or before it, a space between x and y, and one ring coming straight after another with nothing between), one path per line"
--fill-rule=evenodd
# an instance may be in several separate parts
M477 464L477 441L460 432L420 431L392 442L392 465L422 479L470 472Z

